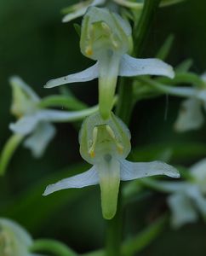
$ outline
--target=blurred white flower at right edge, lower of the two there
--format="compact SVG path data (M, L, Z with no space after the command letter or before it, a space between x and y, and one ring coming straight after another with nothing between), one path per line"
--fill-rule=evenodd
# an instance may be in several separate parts
M192 179L180 182L152 181L157 189L170 193L171 224L174 228L197 221L200 213L206 221L206 159L190 168Z

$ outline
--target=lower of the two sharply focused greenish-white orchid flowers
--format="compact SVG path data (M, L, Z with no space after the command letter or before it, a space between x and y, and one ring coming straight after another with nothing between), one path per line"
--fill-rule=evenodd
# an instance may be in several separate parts
M174 167L161 161L135 163L125 160L131 150L129 129L113 113L107 120L102 119L99 112L85 119L79 143L80 154L93 167L87 172L49 185L43 195L60 189L83 188L100 183L103 217L110 219L117 210L120 180L153 175L179 177Z

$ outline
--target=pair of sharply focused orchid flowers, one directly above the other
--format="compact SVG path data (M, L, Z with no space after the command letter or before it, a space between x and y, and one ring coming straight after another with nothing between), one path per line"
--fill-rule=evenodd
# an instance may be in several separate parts
M125 160L131 149L130 133L123 121L112 113L117 77L163 75L174 78L175 73L161 60L130 56L133 42L129 22L108 9L89 7L83 17L80 48L83 55L96 61L94 66L49 80L44 87L99 79L99 112L84 120L79 134L80 154L93 167L49 185L43 195L100 183L103 217L111 219L117 210L120 180L163 174L180 177L174 167L160 161L134 163Z

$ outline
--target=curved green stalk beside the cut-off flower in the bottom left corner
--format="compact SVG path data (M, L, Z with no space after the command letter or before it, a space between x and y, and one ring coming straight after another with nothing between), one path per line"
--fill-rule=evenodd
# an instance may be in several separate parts
M60 241L51 239L39 239L33 242L31 252L48 252L56 256L77 256L72 249Z

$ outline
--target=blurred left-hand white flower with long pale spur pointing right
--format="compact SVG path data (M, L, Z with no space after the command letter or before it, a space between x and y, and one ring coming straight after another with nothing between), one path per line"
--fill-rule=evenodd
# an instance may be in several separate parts
M52 122L76 121L96 111L96 107L80 111L60 111L40 108L41 99L31 88L18 77L10 79L13 88L11 112L17 121L9 128L22 137L26 137L24 145L30 148L35 157L43 154L48 143L55 134Z

